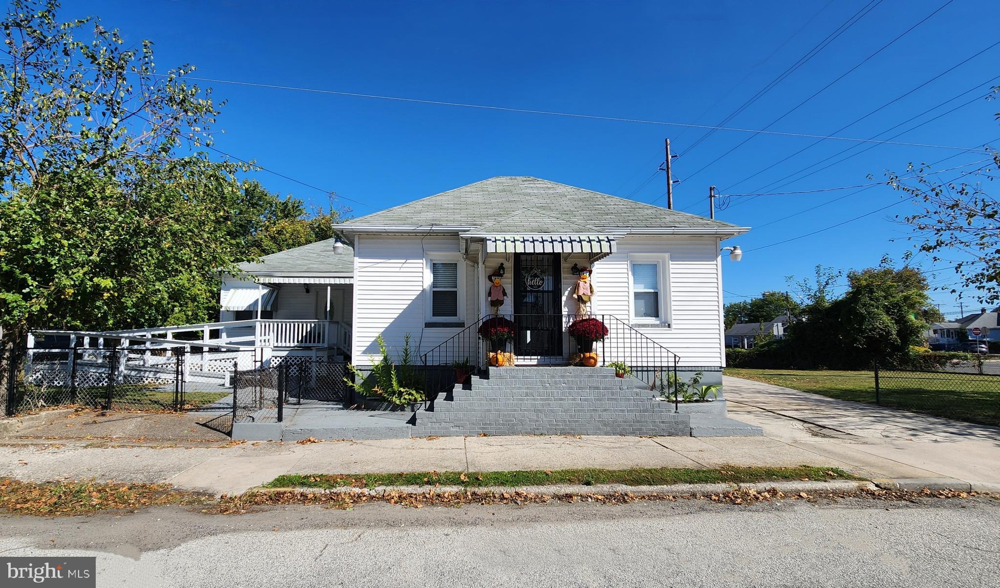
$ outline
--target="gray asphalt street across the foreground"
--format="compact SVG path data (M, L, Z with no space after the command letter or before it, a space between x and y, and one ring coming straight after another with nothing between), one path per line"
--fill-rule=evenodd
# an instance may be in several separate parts
M98 586L997 586L1000 503L700 500L0 519Z

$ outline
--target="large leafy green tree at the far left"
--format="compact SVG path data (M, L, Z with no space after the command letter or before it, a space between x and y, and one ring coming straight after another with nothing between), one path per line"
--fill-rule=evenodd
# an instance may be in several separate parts
M0 62L0 324L115 328L209 317L213 270L239 261L228 221L242 169L211 144L211 90L154 71L58 3L14 0Z

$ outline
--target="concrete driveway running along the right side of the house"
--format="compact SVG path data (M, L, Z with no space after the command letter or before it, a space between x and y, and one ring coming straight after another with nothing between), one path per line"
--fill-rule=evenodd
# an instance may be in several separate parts
M874 477L956 478L1000 489L1000 428L723 376L729 415Z

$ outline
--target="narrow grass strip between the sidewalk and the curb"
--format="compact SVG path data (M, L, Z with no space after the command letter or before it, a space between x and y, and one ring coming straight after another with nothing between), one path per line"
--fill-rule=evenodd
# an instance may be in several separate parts
M519 471L430 471L374 474L295 474L281 475L265 485L268 488L336 488L353 486L541 486L551 484L704 484L718 482L766 482L776 480L855 480L843 470L827 467L735 467L685 469L671 467L633 469L557 469Z

